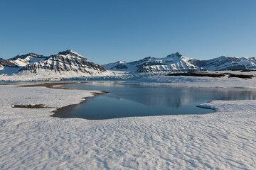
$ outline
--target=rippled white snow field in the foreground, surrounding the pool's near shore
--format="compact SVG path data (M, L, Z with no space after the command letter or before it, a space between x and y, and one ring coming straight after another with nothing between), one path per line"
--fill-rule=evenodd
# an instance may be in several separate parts
M0 86L0 169L256 169L256 101L204 103L218 109L207 115L49 116L85 96L91 91ZM11 108L28 104L53 108Z

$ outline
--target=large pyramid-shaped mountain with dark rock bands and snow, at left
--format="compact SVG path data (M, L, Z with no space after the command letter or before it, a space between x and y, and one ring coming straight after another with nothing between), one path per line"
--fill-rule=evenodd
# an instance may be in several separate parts
M46 60L27 64L18 74L74 74L77 76L94 76L104 74L106 69L99 64L88 61L82 55L73 50L59 52L58 55L51 55Z

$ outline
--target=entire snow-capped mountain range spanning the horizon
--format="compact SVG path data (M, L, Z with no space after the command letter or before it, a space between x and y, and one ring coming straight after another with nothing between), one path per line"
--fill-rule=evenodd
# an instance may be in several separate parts
M214 70L256 69L255 57L217 57L211 60L196 60L180 53L164 58L146 57L134 62L114 62L100 65L88 61L73 50L45 57L29 53L9 60L0 58L1 75L46 75L69 74L70 77L106 76L114 74L199 72Z

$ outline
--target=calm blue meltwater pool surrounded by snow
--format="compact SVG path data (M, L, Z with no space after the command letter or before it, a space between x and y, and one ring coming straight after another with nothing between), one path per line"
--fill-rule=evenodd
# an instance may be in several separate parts
M80 105L68 106L53 115L60 118L85 118L88 120L206 114L214 111L196 106L213 100L254 100L256 98L256 91L253 89L124 86L96 82L67 84L63 87L110 92L87 98Z

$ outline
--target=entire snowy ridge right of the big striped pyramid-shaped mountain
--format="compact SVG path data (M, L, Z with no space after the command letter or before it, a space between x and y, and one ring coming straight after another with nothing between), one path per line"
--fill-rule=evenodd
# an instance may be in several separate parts
M255 57L217 57L212 60L195 60L180 53L165 58L146 57L135 62L114 62L103 65L105 69L132 73L197 72L214 70L256 69Z

